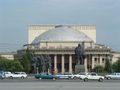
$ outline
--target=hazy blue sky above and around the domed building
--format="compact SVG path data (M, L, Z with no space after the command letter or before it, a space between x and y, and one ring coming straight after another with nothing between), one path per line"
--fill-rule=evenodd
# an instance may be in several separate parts
M97 43L120 51L120 0L0 0L0 52L21 49L28 24L95 24Z

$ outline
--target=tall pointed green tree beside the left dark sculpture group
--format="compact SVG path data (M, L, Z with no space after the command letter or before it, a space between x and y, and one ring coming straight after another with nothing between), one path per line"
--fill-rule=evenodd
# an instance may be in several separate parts
M30 54L30 51L29 49L27 49L25 51L25 54L22 56L22 59L20 60L23 68L24 68L24 71L29 73L30 70L31 70L31 54Z

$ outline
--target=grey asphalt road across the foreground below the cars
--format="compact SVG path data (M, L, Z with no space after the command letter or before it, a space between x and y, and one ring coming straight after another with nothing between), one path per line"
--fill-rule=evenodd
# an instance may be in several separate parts
M0 80L0 90L120 90L120 80Z

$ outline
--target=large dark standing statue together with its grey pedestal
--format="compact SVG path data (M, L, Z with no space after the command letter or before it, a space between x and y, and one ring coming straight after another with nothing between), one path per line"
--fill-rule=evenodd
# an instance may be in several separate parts
M78 47L75 48L75 54L77 55L77 64L75 65L75 73L84 72L85 51L80 44L78 44Z

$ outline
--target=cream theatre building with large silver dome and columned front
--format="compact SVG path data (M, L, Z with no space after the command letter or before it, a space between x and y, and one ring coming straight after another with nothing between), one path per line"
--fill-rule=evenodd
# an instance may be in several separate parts
M81 62L85 71L97 65L105 65L108 58L112 62L111 48L96 43L95 25L29 25L28 46L34 55L49 55L52 70L58 73L75 72L77 58L75 48L81 44L86 58Z

